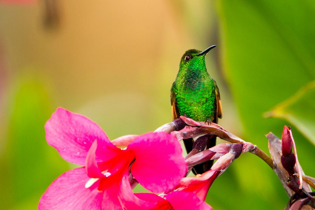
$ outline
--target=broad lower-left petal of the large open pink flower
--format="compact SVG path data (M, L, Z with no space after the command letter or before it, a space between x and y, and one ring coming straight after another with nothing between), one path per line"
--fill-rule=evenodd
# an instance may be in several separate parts
M103 193L98 193L98 182L90 188L85 188L90 178L86 175L85 168L75 168L60 175L41 197L39 210L77 210L101 209Z

